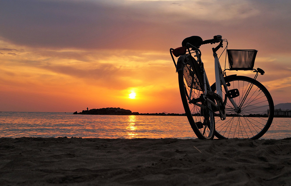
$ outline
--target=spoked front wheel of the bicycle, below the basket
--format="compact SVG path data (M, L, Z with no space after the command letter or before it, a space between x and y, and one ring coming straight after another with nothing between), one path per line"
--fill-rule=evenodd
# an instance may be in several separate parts
M270 128L274 118L274 102L269 91L257 80L246 76L226 76L225 82L229 89L238 89L239 96L233 98L240 106L240 113L234 111L227 98L225 120L215 118L215 136L220 139L249 138L258 139ZM249 93L247 93L250 88ZM211 86L216 90L215 83ZM223 88L223 94L225 95Z

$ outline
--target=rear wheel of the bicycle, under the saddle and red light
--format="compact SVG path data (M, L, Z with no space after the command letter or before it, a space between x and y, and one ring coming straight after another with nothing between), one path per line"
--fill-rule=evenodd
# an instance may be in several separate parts
M191 128L199 139L213 139L215 130L214 115L212 111L207 109L206 103L200 99L203 91L199 88L201 83L198 80L198 76L201 74L199 75L195 72L193 64L190 65L190 63L191 60L189 60L189 58L184 58L181 70L178 71L179 89L185 114ZM186 79L188 84L189 79L192 81L190 86L188 86ZM190 95L191 86L193 91ZM189 95L192 102L188 101ZM196 102L195 104L193 103L194 99Z

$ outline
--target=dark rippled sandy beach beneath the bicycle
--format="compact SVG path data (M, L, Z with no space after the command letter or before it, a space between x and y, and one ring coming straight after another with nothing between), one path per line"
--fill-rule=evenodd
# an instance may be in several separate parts
M0 138L0 185L291 185L282 140Z

